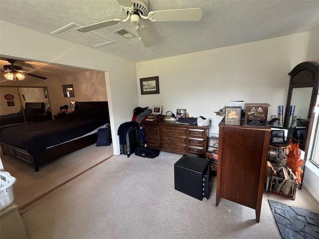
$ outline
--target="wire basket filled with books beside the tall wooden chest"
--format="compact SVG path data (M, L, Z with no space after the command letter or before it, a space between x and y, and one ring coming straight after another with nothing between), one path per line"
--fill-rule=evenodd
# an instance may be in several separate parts
M288 166L275 167L267 161L266 192L295 200L297 186L297 177Z

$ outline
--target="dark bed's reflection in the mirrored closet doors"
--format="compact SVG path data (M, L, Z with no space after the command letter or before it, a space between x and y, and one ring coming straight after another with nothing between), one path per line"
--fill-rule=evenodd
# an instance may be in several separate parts
M25 108L17 113L0 116L0 126L30 121L39 121L39 115L45 113L44 102L25 102ZM23 116L24 115L24 116ZM25 120L24 120L25 117Z

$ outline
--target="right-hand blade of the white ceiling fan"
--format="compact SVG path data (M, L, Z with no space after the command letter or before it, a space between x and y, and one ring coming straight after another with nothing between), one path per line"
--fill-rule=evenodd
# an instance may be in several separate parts
M151 21L199 21L202 15L201 8L150 11L148 14Z

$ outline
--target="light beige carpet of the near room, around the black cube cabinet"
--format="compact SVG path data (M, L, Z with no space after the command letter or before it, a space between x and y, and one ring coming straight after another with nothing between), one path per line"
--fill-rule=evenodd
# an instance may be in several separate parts
M281 239L268 199L319 212L306 189L296 200L264 193L255 210L221 199L216 178L209 200L174 189L181 155L113 156L21 212L28 239Z

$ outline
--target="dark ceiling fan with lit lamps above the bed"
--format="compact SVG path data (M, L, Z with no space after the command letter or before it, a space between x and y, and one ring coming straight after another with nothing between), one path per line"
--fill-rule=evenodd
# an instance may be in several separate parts
M6 61L9 62L11 65L4 65L3 70L1 70L1 72L5 72L4 77L8 80L15 80L15 81L19 80L20 81L20 80L24 79L24 75L40 78L42 80L47 79L47 77L39 76L39 75L35 75L35 74L32 74L32 73L27 72L27 71L23 71L22 67L17 66L17 65L13 65L15 60L6 59Z

